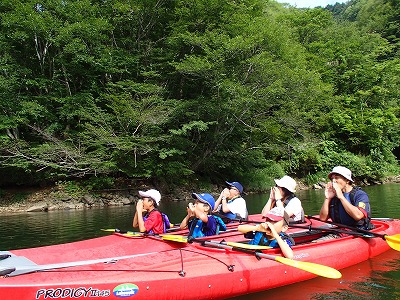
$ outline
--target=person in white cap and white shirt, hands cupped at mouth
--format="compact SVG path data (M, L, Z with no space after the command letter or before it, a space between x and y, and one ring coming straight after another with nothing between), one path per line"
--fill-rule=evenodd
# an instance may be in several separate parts
M275 186L271 188L269 199L261 211L263 217L274 207L283 207L290 217L291 223L304 222L304 210L299 198L295 196L296 181L290 176L274 179Z

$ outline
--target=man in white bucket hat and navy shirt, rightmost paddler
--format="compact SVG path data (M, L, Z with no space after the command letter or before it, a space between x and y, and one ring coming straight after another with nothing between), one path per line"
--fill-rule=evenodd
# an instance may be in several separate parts
M331 218L333 222L370 230L371 207L369 197L360 187L353 186L351 171L336 166L328 174L331 180L325 187L325 201L320 211L322 221Z

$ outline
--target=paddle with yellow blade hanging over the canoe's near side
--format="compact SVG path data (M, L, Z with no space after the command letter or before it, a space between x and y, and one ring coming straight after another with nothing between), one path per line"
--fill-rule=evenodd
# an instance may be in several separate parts
M227 244L221 244L221 243L216 243L216 242L202 241L202 243L204 245L209 245L209 246L216 247L216 248L236 250L236 251L241 251L244 253L255 254L256 257L274 260L276 262L285 264L287 266L298 268L303 271L307 271L307 272L313 273L315 275L326 277L326 278L338 279L338 278L342 277L342 274L338 270L328 267L328 266L316 264L316 263L292 260L292 259L285 258L282 256L275 256L275 255L265 254L265 253L261 253L261 252L257 252L257 251L249 251L249 250L235 248L235 247L229 246Z

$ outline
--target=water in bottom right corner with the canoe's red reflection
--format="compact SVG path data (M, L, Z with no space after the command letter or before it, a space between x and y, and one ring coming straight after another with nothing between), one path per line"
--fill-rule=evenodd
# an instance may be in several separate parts
M370 300L399 299L400 254L389 250L375 258L340 270L341 279L317 277L265 292L234 297L231 300ZM267 275L266 275L267 276Z

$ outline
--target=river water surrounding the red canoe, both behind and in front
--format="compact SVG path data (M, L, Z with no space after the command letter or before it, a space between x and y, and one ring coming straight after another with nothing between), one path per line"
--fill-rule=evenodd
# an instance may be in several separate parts
M368 186L364 190L370 197L372 217L400 218L400 184ZM249 213L260 213L268 196L246 195ZM324 199L323 190L300 191L297 196L306 214L319 213ZM160 209L168 214L171 222L179 223L186 214L186 206L187 202L162 202ZM3 215L0 221L0 250L38 247L109 234L101 231L102 228L132 229L134 212L132 205ZM341 270L341 273L343 277L340 280L319 277L232 299L400 299L398 251L390 250L362 264Z

